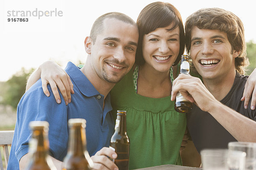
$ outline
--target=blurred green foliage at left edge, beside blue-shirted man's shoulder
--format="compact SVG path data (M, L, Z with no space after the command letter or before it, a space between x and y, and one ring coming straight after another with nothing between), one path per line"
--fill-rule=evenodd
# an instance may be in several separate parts
M3 91L3 99L1 103L4 105L11 105L12 108L15 109L17 108L17 105L26 90L26 80L32 71L34 71L33 68L29 71L22 68L3 85L5 91Z

